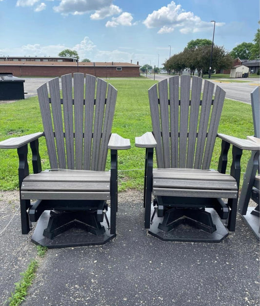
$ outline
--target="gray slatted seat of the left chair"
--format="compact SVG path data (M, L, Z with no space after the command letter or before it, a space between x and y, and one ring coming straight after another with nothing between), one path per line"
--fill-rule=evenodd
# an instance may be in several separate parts
M109 200L110 172L58 170L27 176L21 198L41 200Z

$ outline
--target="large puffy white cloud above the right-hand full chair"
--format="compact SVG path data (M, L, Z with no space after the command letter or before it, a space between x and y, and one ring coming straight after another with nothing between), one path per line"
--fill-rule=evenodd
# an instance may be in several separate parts
M158 11L153 11L143 21L143 24L147 28L160 28L159 34L173 32L175 28L180 28L182 34L212 29L211 22L202 21L192 12L185 12L181 5L176 5L174 1L167 6L162 6ZM216 23L216 26L222 25L224 25L223 22Z

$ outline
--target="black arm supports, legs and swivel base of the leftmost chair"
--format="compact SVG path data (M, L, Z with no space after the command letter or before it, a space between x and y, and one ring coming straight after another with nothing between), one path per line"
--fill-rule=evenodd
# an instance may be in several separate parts
M41 162L39 154L39 140L30 143L32 150L33 173L41 171ZM28 144L17 149L19 156L19 187L23 179L29 175L28 166ZM110 208L106 201L100 200L38 200L31 203L31 200L24 200L20 194L20 214L21 214L21 232L28 234L31 230L31 222L39 224L35 229L32 241L36 244L48 247L76 246L76 245L96 245L104 244L116 236L116 213L118 210L118 152L111 149L111 176L110 176ZM82 211L85 213L82 214ZM110 224L106 216L106 211L110 215ZM46 212L46 213L45 213ZM104 228L100 223L103 222L108 226ZM66 241L59 239L61 233L68 229L76 227L86 230L97 236L97 239L91 237L89 241L83 237L84 242L70 242L67 237ZM42 234L43 233L43 234ZM44 237L43 237L44 236ZM80 236L80 235L78 235ZM100 236L102 236L100 238ZM54 240L55 242L49 241Z

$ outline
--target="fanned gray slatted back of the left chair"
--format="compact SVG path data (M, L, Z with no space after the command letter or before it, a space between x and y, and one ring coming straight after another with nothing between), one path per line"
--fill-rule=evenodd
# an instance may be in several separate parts
M73 77L62 76L61 88L59 78L49 81L50 97L46 83L37 91L50 166L104 170L117 90L91 75Z

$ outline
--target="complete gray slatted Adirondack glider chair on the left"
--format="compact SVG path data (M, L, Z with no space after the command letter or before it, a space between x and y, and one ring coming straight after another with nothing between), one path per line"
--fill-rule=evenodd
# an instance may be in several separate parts
M117 90L82 73L62 76L61 88L59 78L48 87L45 83L38 89L44 132L0 142L0 148L18 150L22 234L38 221L32 236L36 244L104 244L116 236L117 150L130 148L129 140L111 134ZM41 136L51 166L45 171L39 155ZM28 143L34 172L30 175ZM111 171L105 171L108 149Z

